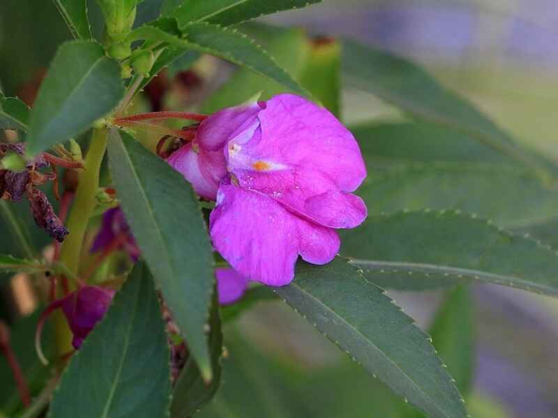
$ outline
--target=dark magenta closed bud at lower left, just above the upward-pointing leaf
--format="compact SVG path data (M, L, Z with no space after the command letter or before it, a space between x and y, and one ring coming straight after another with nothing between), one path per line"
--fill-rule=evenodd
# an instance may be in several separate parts
M73 333L72 345L77 350L96 323L105 316L114 291L97 286L84 286L61 301L62 311Z

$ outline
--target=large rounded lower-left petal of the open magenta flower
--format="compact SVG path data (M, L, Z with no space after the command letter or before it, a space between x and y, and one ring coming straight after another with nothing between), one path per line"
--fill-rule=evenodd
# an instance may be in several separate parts
M283 286L294 277L297 219L264 194L224 183L209 229L213 246L240 274Z

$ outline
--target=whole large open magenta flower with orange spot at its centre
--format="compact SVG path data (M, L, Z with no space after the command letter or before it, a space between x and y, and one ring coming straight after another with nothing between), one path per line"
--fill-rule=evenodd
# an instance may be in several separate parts
M206 199L213 246L243 277L292 281L299 255L329 263L367 214L351 192L366 176L351 132L296 95L224 109L168 159Z

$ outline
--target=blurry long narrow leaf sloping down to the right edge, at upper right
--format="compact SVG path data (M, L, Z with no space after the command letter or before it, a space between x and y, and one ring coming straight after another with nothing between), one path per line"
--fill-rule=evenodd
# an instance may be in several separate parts
M352 41L343 43L342 63L347 84L395 104L414 118L465 132L545 179L556 176L556 167L515 144L472 103L439 84L417 65Z

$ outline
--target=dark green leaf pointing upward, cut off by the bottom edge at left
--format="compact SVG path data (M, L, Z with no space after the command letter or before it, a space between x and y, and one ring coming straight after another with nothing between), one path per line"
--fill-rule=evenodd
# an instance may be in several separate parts
M71 358L49 418L165 417L169 349L151 274L143 263Z

